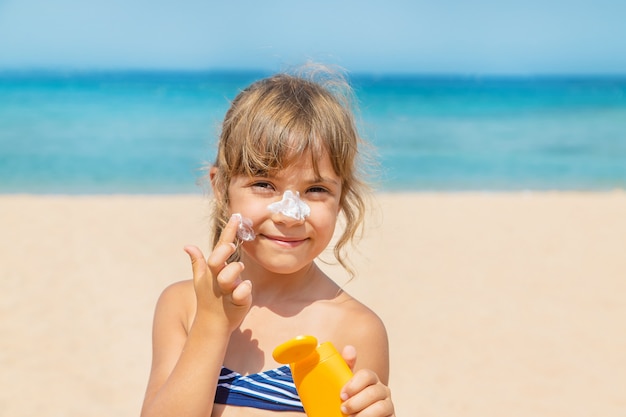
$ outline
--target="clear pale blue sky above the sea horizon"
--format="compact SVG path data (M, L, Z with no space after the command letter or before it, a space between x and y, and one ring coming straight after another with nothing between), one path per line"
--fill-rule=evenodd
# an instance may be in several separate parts
M626 74L625 0L0 0L0 70Z

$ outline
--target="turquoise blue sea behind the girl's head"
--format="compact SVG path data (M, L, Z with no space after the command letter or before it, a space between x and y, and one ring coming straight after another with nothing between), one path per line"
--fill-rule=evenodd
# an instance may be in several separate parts
M0 72L0 193L205 189L263 72ZM626 189L626 75L349 74L384 192Z

